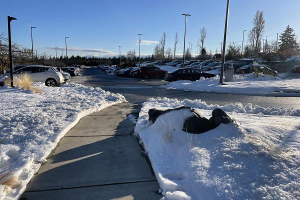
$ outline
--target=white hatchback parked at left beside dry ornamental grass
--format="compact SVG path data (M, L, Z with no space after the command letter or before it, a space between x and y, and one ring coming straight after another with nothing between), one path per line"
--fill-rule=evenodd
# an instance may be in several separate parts
M13 71L13 74L28 73L35 82L44 82L46 86L57 86L64 82L63 75L56 67L26 65ZM5 74L9 77L9 74Z

